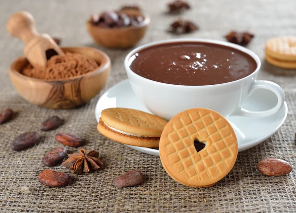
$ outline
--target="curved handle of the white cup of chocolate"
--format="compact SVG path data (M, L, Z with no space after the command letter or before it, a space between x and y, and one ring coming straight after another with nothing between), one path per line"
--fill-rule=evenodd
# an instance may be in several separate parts
M253 84L248 96L250 96L255 90L257 89L267 89L272 91L278 98L278 103L276 106L274 106L271 109L267 109L264 111L250 111L247 109L244 109L240 107L234 115L245 115L245 116L253 116L253 117L266 117L269 115L272 115L276 113L284 104L285 102L285 92L284 90L277 85L276 83L273 83L271 81L266 80L256 80Z

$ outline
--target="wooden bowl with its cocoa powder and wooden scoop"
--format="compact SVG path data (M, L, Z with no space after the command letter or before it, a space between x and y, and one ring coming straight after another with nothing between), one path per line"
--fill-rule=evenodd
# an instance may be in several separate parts
M73 108L90 101L110 73L109 56L90 47L59 47L47 34L38 34L33 16L18 12L7 22L12 36L25 43L24 56L9 68L18 93L47 108Z

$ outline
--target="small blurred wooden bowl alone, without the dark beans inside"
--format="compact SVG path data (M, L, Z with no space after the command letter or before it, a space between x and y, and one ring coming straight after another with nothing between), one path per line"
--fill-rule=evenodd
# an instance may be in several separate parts
M144 21L136 27L117 27L117 28L102 28L91 24L90 20L86 22L86 28L94 41L102 46L110 48L129 48L140 41L146 33L150 18L137 10L121 10L130 16L143 16Z

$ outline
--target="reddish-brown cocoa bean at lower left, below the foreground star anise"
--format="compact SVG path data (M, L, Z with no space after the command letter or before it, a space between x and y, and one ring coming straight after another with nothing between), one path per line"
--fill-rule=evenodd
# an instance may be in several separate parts
M47 186L67 186L70 178L66 173L43 170L38 176L39 182Z

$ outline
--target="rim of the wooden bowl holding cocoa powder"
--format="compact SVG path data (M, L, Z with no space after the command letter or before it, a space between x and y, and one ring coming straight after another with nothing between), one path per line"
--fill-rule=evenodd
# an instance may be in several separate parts
M27 75L23 75L19 71L17 71L17 69L15 68L16 64L19 63L20 61L27 60L25 56L20 56L10 64L9 71L11 73L13 73L17 77L21 77L21 78L28 79L28 80L31 80L31 81L37 81L37 82L67 82L69 80L74 80L74 79L78 79L78 78L85 77L85 76L92 77L92 75L98 74L98 73L103 72L103 71L107 71L108 68L111 66L110 57L105 52L103 52L102 50L92 48L92 47L86 47L86 46L75 46L75 47L74 46L65 46L65 47L61 47L62 50L64 50L64 49L82 49L82 48L83 49L92 49L93 51L95 51L98 54L102 55L103 58L104 58L104 61L106 61L106 62L103 63L103 64L100 64L100 66L96 70L87 72L87 73L85 73L83 75L78 75L78 76L70 77L70 78L67 78L67 79L43 80L43 79L38 79L38 78L29 77ZM68 52L72 52L72 51L68 51ZM98 62L98 61L96 61L96 62Z

